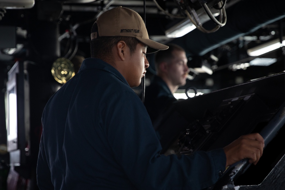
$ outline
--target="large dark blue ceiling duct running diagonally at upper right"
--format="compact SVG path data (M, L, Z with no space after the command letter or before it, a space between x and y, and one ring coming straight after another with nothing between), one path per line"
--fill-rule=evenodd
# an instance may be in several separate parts
M285 17L284 0L245 0L227 9L227 24L213 33L200 30L176 38L171 43L182 46L190 56L203 56L207 52L256 31L263 25ZM210 22L205 28L212 27Z

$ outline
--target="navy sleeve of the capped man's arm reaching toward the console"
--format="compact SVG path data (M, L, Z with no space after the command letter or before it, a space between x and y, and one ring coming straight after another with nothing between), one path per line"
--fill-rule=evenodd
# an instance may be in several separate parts
M107 117L107 138L115 159L138 189L203 189L225 170L222 149L193 156L160 155L161 145L139 97L130 91L113 95Z

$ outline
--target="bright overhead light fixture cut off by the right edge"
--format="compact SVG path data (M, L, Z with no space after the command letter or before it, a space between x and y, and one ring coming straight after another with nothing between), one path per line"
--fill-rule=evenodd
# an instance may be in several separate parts
M275 39L270 42L266 42L264 44L261 44L259 46L256 46L254 48L248 49L247 54L249 56L260 56L263 54L266 54L268 52L271 52L273 50L276 50L282 46L285 46L285 36L282 38L282 44L280 43L280 39Z

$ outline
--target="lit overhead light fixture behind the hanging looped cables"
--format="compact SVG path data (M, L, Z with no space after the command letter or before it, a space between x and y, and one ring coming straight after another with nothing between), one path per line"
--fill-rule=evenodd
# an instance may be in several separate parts
M219 13L213 14L215 17L219 15ZM210 20L207 14L203 14L199 16L200 22L203 24ZM185 34L194 30L196 26L190 21L189 18L183 19L179 23L175 24L174 26L170 27L165 31L165 36L168 38L178 38L184 36Z

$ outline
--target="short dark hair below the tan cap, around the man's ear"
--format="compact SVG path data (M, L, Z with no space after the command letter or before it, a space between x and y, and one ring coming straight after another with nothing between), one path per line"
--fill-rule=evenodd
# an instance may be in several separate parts
M90 50L91 58L99 58L102 60L109 60L112 57L112 48L119 41L126 42L127 46L130 48L130 54L132 55L139 44L139 40L134 37L125 37L125 36L102 36L96 39L91 40Z

